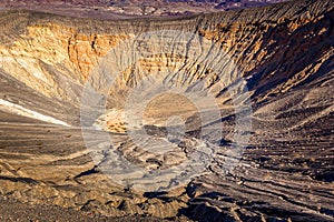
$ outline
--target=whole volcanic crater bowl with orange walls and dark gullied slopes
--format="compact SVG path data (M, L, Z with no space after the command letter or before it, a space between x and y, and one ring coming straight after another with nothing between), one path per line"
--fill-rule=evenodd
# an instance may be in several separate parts
M0 11L1 195L116 218L333 220L333 17L331 0L181 20ZM166 41L173 47L164 51ZM159 94L160 84L178 91ZM90 88L97 95L85 100ZM157 95L149 102L149 93L138 99L147 89ZM215 108L207 98L176 93L208 91ZM107 111L82 109L85 101ZM252 110L243 119L252 120L249 129L236 127L242 108ZM131 119L138 113L144 125ZM184 123L181 139L168 138L168 121ZM154 139L139 147L127 135L131 128ZM222 165L233 164L228 158L238 159L229 152L237 150L236 131L249 138L235 169L223 173ZM106 137L116 141L112 152L101 141ZM163 140L169 141L166 149L180 142L153 152ZM163 171L185 162L203 142L215 152L205 173L171 191L131 190L115 182L121 175L108 176L119 167L112 153ZM159 184L159 175L150 182Z

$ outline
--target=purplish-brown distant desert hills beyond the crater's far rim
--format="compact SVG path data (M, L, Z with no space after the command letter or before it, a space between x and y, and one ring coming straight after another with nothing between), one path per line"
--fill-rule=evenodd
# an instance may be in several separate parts
M90 16L111 13L128 16L186 16L262 7L287 0L3 0L0 7ZM92 16L95 17L95 16ZM106 16L104 17L106 18Z

